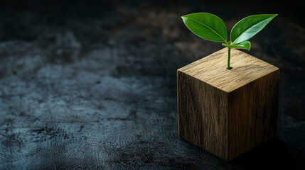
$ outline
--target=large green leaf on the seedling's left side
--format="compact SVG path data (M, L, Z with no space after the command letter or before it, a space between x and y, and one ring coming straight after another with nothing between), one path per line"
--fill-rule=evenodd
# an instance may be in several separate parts
M225 23L210 13L191 13L181 16L186 27L205 40L227 42L228 33Z

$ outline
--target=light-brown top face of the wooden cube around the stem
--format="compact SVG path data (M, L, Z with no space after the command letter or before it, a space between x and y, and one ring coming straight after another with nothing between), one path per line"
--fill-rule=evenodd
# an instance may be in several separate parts
M232 49L230 58L230 70L227 69L228 48L224 48L178 69L178 72L188 74L222 91L231 92L278 70L272 64L240 50Z

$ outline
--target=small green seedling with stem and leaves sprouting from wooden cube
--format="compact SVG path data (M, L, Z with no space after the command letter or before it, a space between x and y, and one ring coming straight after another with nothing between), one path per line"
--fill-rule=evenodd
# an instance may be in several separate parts
M205 40L224 42L222 45L228 47L228 67L230 67L230 51L232 48L250 50L251 43L247 40L256 35L277 14L253 15L243 18L232 28L230 41L227 42L228 32L225 23L218 16L210 13L191 13L181 16L186 27L194 34Z

